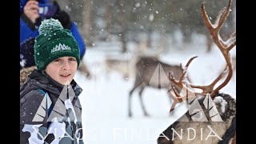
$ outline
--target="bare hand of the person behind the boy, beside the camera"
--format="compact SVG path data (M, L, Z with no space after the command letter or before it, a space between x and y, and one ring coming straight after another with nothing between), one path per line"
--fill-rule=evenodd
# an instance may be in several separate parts
M34 23L35 20L39 18L38 9L38 2L35 0L29 0L24 6L24 14L27 18L30 18L31 22Z

